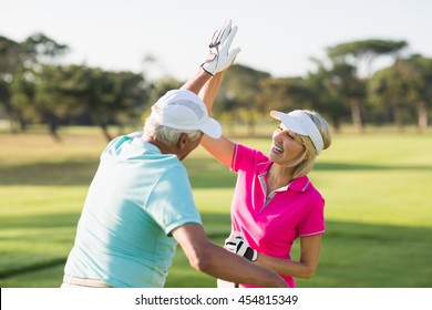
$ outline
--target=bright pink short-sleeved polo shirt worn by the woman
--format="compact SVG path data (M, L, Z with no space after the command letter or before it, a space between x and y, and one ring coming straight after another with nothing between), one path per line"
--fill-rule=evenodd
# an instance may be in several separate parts
M271 164L261 152L236 145L232 169L238 176L232 203L232 228L241 231L250 247L259 252L290 259L295 239L325 232L325 199L307 176L294 179L266 198ZM296 287L294 277L280 276L289 287Z

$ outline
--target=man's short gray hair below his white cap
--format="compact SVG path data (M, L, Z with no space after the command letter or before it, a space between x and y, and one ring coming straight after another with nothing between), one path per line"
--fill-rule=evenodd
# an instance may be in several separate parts
M151 114L144 123L144 135L151 136L155 141L166 145L173 146L178 143L178 140L183 133L187 134L191 141L195 141L200 137L200 131L186 131L186 130L176 130L161 125L153 114Z

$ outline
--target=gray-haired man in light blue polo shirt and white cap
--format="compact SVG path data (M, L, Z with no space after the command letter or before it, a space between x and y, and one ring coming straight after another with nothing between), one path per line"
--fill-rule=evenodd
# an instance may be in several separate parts
M143 133L120 136L101 156L79 221L62 287L163 287L177 242L193 268L215 278L286 287L274 271L214 245L204 232L181 161L203 134L219 137L197 93L239 52L237 28L215 32L210 55L181 90L153 106Z

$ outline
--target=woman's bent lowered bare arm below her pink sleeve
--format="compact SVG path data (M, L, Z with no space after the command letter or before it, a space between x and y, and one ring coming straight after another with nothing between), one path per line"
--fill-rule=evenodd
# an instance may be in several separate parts
M276 258L264 254L258 255L256 264L276 271L279 275L309 279L318 267L321 250L321 235L300 238L300 260Z

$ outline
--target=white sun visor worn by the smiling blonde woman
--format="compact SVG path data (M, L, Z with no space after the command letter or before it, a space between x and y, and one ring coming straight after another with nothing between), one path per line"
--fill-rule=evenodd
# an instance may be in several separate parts
M313 143L315 149L317 154L321 154L323 148L323 140L318 131L317 125L308 116L308 114L301 110L295 110L290 113L282 113L278 111L270 112L271 117L279 120L282 122L284 126L287 130L299 134L307 135Z

